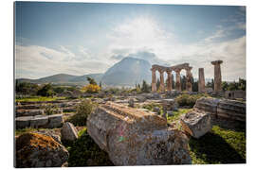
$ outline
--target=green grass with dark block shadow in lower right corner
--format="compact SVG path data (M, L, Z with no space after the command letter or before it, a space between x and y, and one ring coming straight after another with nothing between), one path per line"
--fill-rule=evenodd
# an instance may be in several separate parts
M246 163L246 132L213 126L200 139L190 140L193 164Z

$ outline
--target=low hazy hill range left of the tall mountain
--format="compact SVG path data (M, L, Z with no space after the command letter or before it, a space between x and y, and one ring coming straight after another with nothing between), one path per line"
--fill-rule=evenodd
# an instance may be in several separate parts
M53 83L53 84L63 84L63 85L84 85L87 84L87 76L90 76L96 80L97 83L101 81L103 74L90 74L83 76L73 76L67 74L58 74L53 76L46 76L38 79L29 79L29 78L19 78L17 79L20 82L31 82L37 84L43 83Z

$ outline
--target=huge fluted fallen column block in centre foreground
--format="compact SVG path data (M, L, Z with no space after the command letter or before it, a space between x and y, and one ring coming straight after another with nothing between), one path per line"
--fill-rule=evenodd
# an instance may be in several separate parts
M153 112L107 102L89 115L86 125L115 165L192 162L187 136Z

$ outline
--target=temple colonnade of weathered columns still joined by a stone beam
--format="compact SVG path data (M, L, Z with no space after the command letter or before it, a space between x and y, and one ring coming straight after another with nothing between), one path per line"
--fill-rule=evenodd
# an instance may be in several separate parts
M164 67L160 65L152 65L151 71L152 71L152 92L156 92L156 75L155 72L158 71L160 74L160 92L165 92L165 86L164 86L164 72L167 73L167 91L172 91L172 82L173 82L173 75L172 72L174 71L176 74L176 82L175 82L175 89L177 91L181 91L181 82L180 82L180 72L182 69L186 70L186 76L187 76L187 82L186 82L186 89L189 92L192 92L192 67L189 63L183 63L179 65L174 65L172 67Z

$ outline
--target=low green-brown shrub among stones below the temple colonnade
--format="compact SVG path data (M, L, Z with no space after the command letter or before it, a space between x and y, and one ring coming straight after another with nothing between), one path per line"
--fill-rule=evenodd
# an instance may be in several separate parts
M179 106L188 106L190 108L193 107L195 104L196 100L203 97L203 96L209 96L208 94L205 93L199 93L199 94L180 94L175 98L175 101L178 103Z

